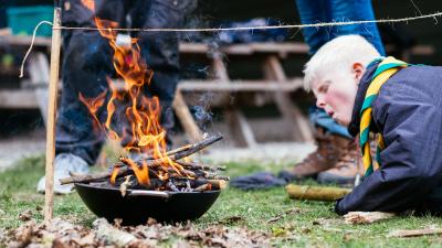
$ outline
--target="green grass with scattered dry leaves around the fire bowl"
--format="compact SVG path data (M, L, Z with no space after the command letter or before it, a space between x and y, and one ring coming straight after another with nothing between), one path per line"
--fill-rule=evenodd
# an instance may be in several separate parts
M235 176L264 168L277 171L287 164L246 162L225 165L228 174ZM0 173L0 229L17 228L22 224L18 216L27 211L32 212L35 220L42 220L44 198L35 193L35 185L43 171L43 158L39 157L22 160L13 169ZM294 207L301 212L267 223ZM440 236L387 237L394 229L442 226L441 218L403 216L372 225L349 226L332 208L332 203L290 200L284 188L257 192L228 188L194 224L199 227L222 224L261 230L271 234L276 247L442 247ZM85 226L91 226L95 219L76 194L56 196L54 215Z

